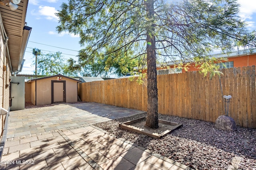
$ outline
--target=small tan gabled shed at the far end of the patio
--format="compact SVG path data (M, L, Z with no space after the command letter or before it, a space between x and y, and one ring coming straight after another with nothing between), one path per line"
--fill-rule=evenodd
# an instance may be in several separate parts
M74 78L57 74L28 80L31 84L31 102L34 105L55 102L77 102L77 84Z

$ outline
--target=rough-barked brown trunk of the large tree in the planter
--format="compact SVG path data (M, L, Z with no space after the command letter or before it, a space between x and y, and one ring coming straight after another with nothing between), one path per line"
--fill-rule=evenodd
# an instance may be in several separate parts
M145 1L147 17L154 17L154 0ZM156 80L156 39L154 36L154 20L147 29L147 74L148 74L148 111L146 119L146 127L152 129L158 128L158 92Z

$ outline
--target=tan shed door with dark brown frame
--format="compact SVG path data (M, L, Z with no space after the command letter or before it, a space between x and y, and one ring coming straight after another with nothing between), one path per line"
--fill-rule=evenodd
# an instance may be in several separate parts
M65 81L52 81L52 103L66 102L66 82Z

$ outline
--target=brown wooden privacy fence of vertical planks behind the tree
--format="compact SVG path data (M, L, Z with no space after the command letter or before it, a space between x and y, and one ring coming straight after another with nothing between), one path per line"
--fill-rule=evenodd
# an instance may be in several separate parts
M199 72L157 76L158 112L215 122L225 114L223 95L231 95L229 116L241 127L256 128L255 66L222 69L211 80ZM147 111L147 87L128 78L78 85L82 101ZM223 92L223 93L222 93Z

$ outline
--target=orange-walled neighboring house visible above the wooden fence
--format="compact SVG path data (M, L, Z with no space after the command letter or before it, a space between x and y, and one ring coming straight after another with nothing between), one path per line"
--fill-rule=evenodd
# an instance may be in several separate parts
M212 57L227 59L227 61L223 61L223 63L218 63L220 65L220 68L233 68L256 65L256 49L254 49L252 53L250 53L249 50L241 50L229 54L215 54L212 55ZM184 68L174 68L174 63L172 62L166 63L166 66L168 66L168 69L164 69L164 67L158 67L157 74L173 74L186 72ZM187 71L199 70L198 66L195 66L194 63L187 66L187 68Z

